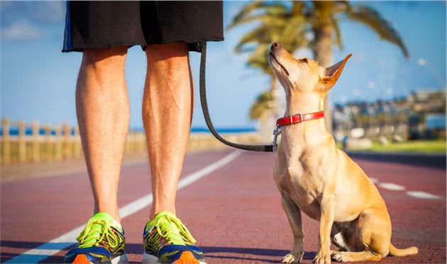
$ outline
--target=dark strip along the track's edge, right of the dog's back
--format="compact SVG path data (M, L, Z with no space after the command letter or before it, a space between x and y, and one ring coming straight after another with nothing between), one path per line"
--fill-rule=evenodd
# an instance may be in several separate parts
M346 151L353 159L394 162L446 170L446 154Z

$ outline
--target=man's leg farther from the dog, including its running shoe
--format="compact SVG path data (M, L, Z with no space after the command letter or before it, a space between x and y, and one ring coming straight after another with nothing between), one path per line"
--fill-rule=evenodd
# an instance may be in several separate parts
M76 111L95 214L79 234L77 246L65 254L64 263L128 263L117 202L129 125L126 53L127 47L96 48L84 50L82 56Z

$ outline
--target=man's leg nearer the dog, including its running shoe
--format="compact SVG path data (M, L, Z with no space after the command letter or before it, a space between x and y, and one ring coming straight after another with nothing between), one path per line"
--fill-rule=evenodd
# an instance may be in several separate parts
M175 195L192 120L194 85L188 47L150 45L143 96L153 205L143 233L143 263L204 264L203 251L175 216Z

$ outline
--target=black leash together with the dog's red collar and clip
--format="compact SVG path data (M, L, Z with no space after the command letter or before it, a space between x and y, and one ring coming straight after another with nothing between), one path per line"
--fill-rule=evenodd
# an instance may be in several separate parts
M319 111L315 113L291 115L289 117L282 117L278 119L276 121L276 129L273 131L273 141L270 145L247 145L247 144L238 144L235 142L229 142L228 140L221 137L221 135L216 131L213 122L211 122L211 117L209 116L208 103L206 102L205 66L206 66L206 42L202 42L202 54L200 56L200 81L199 81L200 104L202 105L202 111L204 113L206 126L208 126L209 131L211 131L211 134L213 134L214 137L216 137L216 139L218 139L223 144L226 144L230 147L235 147L236 149L244 149L248 151L275 152L278 147L276 143L277 137L281 134L283 126L293 125L299 122L324 117L324 112Z

